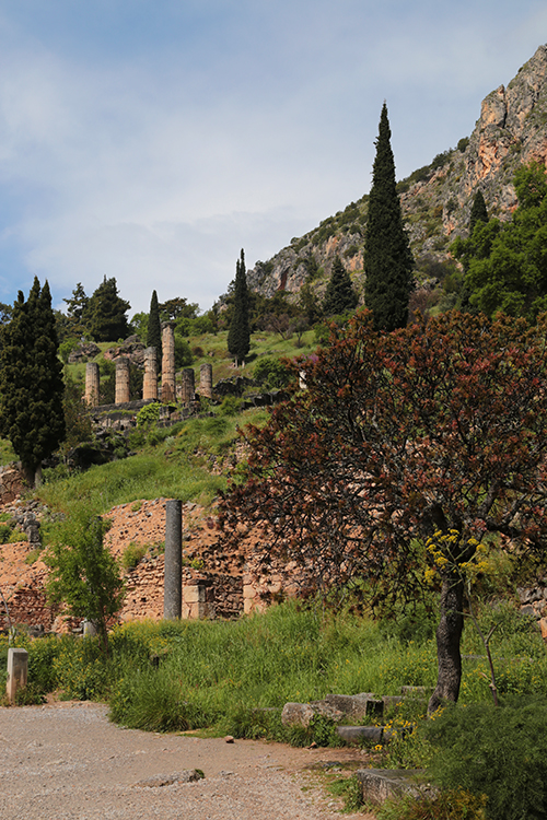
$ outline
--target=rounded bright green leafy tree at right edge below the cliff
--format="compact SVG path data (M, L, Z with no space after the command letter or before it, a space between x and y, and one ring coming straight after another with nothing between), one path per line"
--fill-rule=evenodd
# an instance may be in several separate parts
M547 309L547 179L538 163L515 174L519 208L507 223L477 221L454 256L466 271L472 307L487 316L502 311L534 321Z

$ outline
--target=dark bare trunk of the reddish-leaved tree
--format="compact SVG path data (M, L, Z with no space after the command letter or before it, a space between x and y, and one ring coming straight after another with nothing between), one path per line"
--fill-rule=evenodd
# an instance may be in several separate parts
M443 701L457 701L462 681L459 642L464 629L464 584L457 576L443 578L441 590L441 621L437 628L437 687L428 704L431 714Z

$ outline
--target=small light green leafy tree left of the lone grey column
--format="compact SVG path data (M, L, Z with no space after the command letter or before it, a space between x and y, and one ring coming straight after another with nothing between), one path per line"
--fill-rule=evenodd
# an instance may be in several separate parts
M75 618L92 621L105 655L108 622L123 606L124 584L116 561L104 546L109 523L86 508L73 512L51 544L48 594Z

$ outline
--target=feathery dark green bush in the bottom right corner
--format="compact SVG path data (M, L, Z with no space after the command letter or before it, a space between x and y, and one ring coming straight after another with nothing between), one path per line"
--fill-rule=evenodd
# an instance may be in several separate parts
M429 773L439 785L487 795L492 820L547 816L544 702L447 707L424 733L435 750Z

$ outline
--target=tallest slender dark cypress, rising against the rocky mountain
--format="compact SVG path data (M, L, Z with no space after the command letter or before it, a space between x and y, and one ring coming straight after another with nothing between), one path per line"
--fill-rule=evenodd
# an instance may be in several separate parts
M376 330L394 330L406 325L412 290L414 260L395 187L391 136L384 103L375 143L364 248L365 304L372 311Z

